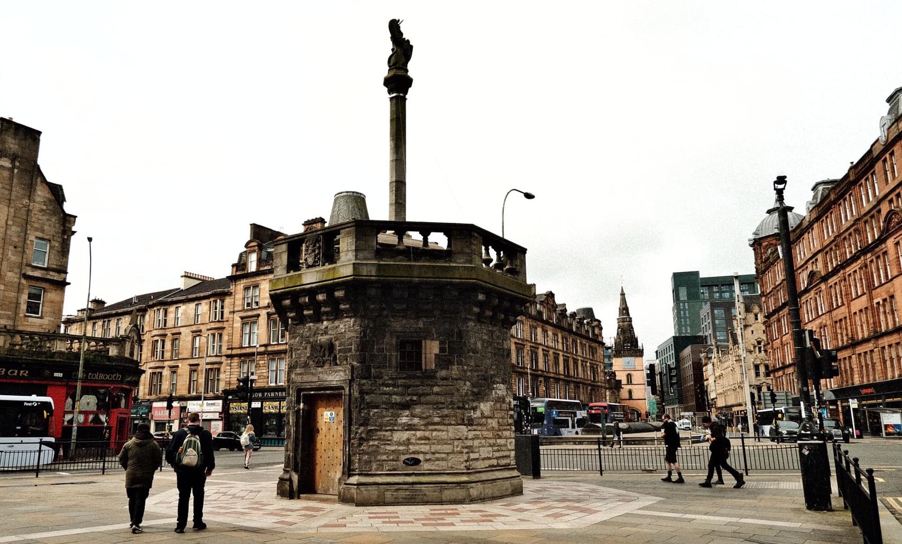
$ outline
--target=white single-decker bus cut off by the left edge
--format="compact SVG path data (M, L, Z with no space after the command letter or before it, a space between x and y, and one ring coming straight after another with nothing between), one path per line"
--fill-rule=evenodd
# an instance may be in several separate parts
M53 462L52 416L49 396L0 394L0 468L34 467L39 460L41 465Z

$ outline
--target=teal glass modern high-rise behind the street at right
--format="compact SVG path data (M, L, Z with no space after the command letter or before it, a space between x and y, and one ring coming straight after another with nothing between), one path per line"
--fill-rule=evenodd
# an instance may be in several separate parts
M673 296L674 335L702 334L702 306L710 302L733 300L732 276L701 277L698 270L674 272L670 276ZM742 295L758 295L754 274L741 274Z

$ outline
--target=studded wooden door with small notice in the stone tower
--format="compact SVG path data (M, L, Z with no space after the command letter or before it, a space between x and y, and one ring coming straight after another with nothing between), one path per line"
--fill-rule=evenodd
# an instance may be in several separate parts
M313 493L338 494L345 436L341 394L317 394L310 399L311 430L309 474Z

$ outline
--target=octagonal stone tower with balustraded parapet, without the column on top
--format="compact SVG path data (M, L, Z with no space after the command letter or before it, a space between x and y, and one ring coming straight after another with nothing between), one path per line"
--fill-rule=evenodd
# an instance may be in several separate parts
M437 233L446 247L428 240ZM458 223L354 220L279 240L270 296L289 331L279 495L364 505L520 494L510 329L530 300L525 257Z

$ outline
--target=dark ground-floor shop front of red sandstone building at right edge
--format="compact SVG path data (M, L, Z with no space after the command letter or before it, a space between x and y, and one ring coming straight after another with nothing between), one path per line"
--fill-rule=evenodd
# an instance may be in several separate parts
M855 430L856 436L899 436L897 415L902 414L902 378L824 391L831 417ZM898 431L897 431L898 429Z

